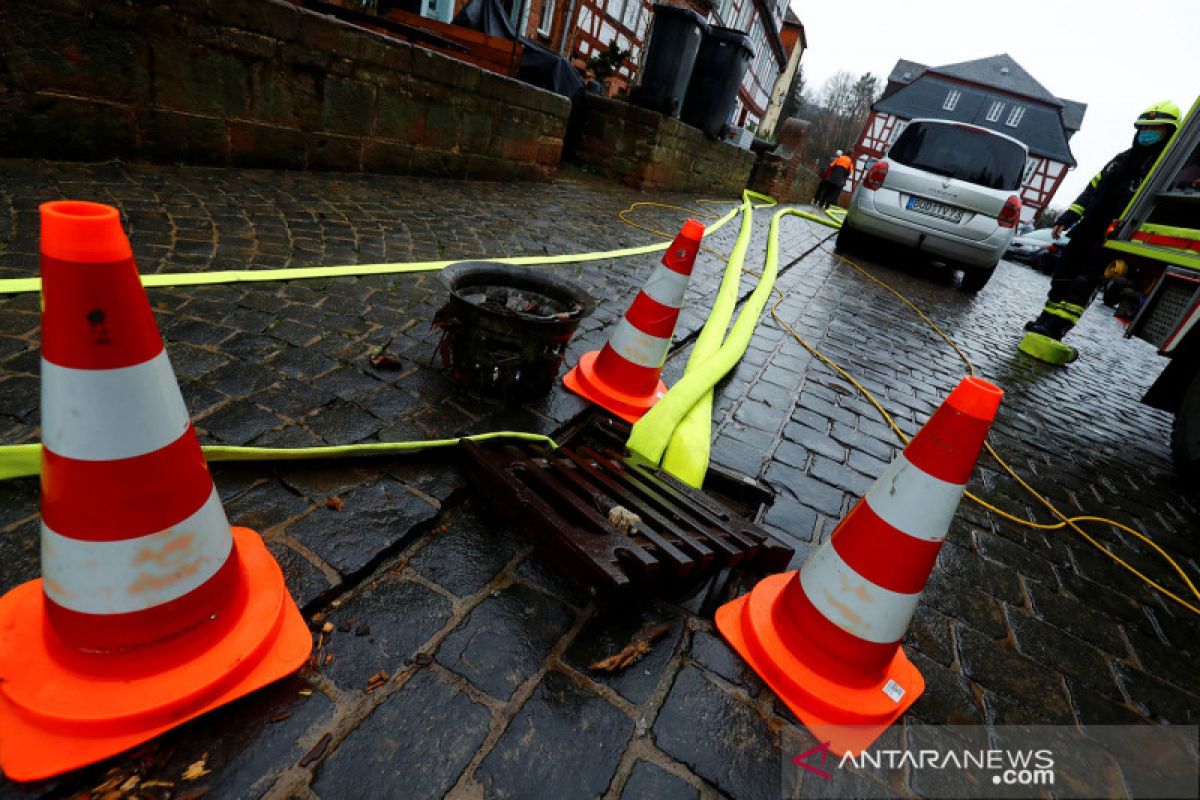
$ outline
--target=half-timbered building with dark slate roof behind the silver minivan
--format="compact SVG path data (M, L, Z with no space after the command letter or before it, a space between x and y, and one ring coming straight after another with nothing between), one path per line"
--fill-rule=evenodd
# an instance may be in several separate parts
M1019 139L1030 149L1021 186L1021 218L1033 219L1075 167L1070 137L1087 106L1056 97L1007 53L928 67L900 59L854 146L857 186L865 166L880 158L914 119L971 122Z

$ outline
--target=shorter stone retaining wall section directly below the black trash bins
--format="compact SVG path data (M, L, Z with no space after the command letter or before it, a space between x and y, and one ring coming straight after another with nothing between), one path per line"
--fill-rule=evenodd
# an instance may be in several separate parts
M739 194L755 156L707 138L679 120L588 95L570 154L607 178L640 190Z

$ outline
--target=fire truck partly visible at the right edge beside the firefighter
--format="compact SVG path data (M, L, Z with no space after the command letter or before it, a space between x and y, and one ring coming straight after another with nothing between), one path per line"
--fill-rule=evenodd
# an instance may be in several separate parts
M1200 479L1200 98L1130 200L1105 246L1110 272L1138 291L1126 336L1170 359L1142 402L1175 414L1171 452Z

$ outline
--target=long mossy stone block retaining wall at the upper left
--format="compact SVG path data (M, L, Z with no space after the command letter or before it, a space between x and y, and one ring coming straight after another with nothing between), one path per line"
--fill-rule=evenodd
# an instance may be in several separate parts
M0 154L545 179L566 98L281 0L0 4Z

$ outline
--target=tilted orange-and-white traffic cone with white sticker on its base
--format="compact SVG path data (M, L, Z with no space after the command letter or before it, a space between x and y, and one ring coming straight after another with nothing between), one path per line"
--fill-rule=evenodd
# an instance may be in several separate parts
M875 741L925 690L900 640L1003 392L964 378L799 572L716 610L716 627L838 754Z

